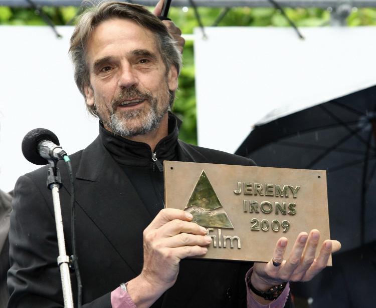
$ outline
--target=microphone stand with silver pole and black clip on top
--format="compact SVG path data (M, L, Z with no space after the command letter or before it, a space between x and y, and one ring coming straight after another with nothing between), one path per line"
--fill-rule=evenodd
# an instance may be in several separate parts
M47 187L52 191L52 199L54 202L54 213L56 223L56 233L58 236L59 256L58 266L60 268L61 284L63 287L64 307L74 308L71 277L69 274L70 258L65 249L63 218L61 214L59 189L62 186L59 168L57 168L57 160L48 160L50 167L48 169Z

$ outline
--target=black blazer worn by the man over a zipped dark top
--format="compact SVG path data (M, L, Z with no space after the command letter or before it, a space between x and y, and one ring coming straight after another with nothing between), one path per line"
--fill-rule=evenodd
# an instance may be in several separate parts
M254 165L253 161L178 142L181 161ZM77 252L84 307L111 307L110 292L142 269L142 231L150 223L136 190L98 137L70 156L76 198ZM66 168L59 163L63 183ZM19 178L11 216L9 307L62 307L58 244L47 167ZM67 254L70 246L69 185L60 191ZM186 259L163 307L245 307L244 277L252 263ZM75 293L75 276L71 274Z

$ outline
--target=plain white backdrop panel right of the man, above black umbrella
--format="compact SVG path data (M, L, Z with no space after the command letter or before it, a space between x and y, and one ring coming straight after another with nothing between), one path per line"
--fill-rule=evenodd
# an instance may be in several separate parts
M252 126L376 85L376 27L206 28L195 34L199 145L235 152ZM268 117L268 120L272 120Z

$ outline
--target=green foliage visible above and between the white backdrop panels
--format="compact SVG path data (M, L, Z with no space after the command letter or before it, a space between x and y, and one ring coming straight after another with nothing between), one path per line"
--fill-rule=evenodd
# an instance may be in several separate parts
M72 24L81 8L43 7L43 12L55 25ZM217 8L199 8L199 14L205 27L212 26L223 10ZM285 9L286 15L298 27L320 27L330 24L330 13L322 9ZM183 12L181 8L171 8L169 17L184 34L192 34L199 23L192 8ZM349 26L376 25L376 9L354 10L348 17ZM32 9L0 7L0 25L46 25L43 19ZM279 10L273 8L233 8L218 26L244 27L289 27L288 21ZM193 42L186 42L183 52L184 67L179 78L179 90L173 111L183 120L180 138L189 143L197 143L196 132L196 95Z

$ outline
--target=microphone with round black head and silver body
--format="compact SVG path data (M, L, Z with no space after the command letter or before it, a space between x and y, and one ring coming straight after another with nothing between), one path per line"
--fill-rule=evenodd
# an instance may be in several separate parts
M47 165L49 160L63 160L67 155L58 137L45 128L36 128L26 134L22 141L22 153L36 165Z

